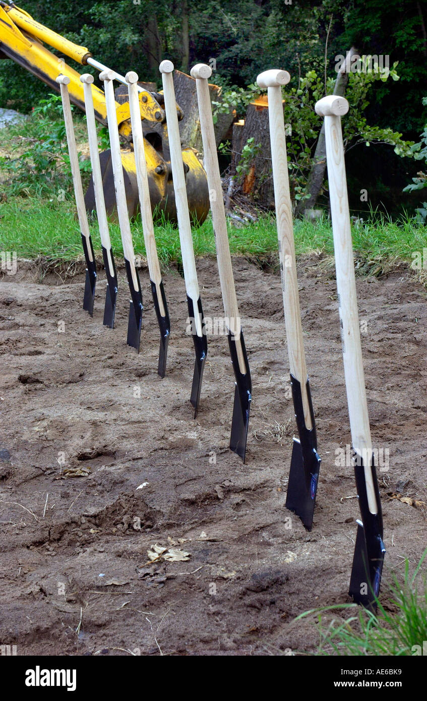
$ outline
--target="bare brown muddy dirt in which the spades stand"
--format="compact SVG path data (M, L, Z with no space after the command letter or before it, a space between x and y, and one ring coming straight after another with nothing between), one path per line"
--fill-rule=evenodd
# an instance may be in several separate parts
M198 263L205 315L222 316L215 261ZM126 346L123 270L116 329L93 319L83 275L40 282L31 265L0 283L0 644L18 655L269 655L313 652L313 606L349 601L356 533L336 284L300 259L307 365L322 457L313 531L285 510L294 418L280 278L234 261L252 371L246 464L228 449L233 375L210 336L201 410L184 280L165 275L168 372L142 271L141 352ZM400 271L358 278L362 345L387 548L382 597L403 557L426 546L427 299ZM61 323L63 322L63 323ZM143 486L141 486L143 485ZM406 499L400 501L395 498ZM416 505L415 505L416 502ZM159 545L189 553L149 562Z

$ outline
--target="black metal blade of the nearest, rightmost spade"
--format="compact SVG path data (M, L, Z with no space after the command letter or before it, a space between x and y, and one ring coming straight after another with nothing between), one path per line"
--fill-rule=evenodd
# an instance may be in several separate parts
M356 604L361 604L374 613L377 610L377 598L381 585L381 573L386 548L383 543L381 501L373 456L372 479L377 501L377 514L372 514L369 509L365 468L362 458L358 455L355 456L354 472L362 521L357 521L358 534L355 542L348 593L353 597L353 601Z

